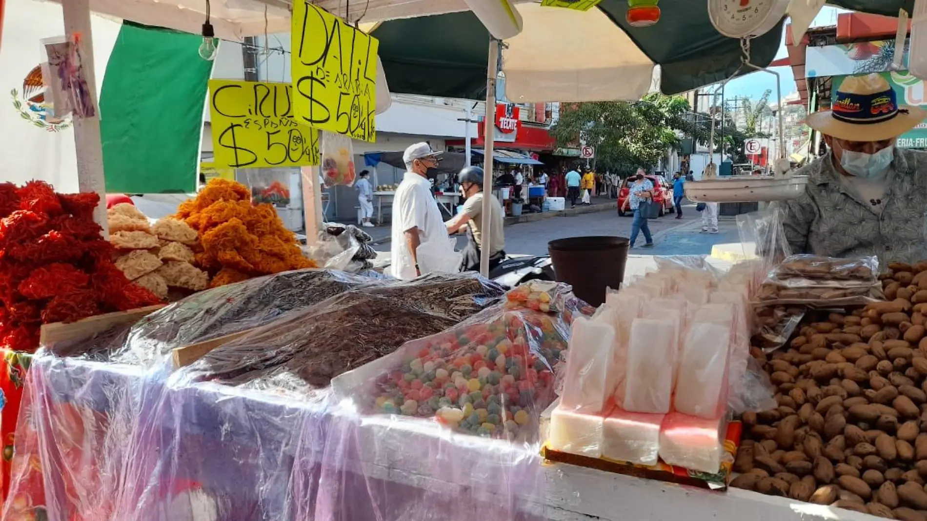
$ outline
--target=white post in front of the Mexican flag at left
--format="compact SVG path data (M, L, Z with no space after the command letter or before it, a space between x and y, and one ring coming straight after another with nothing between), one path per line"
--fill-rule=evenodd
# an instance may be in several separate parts
M64 30L70 40L80 35L83 77L87 81L95 114L91 118L74 117L74 145L77 152L77 185L81 192L96 192L100 204L94 212L94 221L103 226L103 236L109 235L107 226L107 187L103 176L103 144L100 138L100 107L96 100L94 71L94 37L90 27L90 0L62 0ZM56 81L53 79L52 81Z

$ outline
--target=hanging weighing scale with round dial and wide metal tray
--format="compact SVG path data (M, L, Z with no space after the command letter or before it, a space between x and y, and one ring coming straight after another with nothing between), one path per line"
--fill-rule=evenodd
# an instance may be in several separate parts
M799 0L800 1L800 0ZM782 105L782 93L779 74L773 70L758 67L750 62L750 39L779 25L785 16L790 0L707 0L708 15L717 32L741 39L741 67L721 83L721 87L730 82L744 68L768 72L776 77L776 96L779 107ZM782 110L777 115L779 121L779 154L773 163L771 175L717 175L715 164L715 124L711 125L708 149L712 151L701 181L684 184L686 198L695 202L755 202L792 199L802 195L807 183L806 176L796 176L792 172L789 159L785 157L785 136L782 129ZM723 117L721 124L724 124ZM723 153L723 150L722 150Z

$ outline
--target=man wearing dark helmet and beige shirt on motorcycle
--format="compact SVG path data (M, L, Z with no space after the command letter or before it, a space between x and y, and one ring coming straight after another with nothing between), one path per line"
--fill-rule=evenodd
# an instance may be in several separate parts
M485 230L483 212L483 169L479 167L466 167L457 177L464 194L464 209L451 221L444 224L449 234L466 231L467 245L464 248L464 261L461 264L463 272L478 272L479 259L484 249L483 230ZM505 235L502 231L502 205L499 199L489 197L489 228L492 235L489 244L489 269L493 269L505 259Z

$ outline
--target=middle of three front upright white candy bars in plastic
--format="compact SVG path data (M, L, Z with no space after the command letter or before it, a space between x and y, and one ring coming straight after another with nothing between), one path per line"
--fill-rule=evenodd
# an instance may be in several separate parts
M631 324L624 409L668 413L676 365L677 332L662 320L639 318Z

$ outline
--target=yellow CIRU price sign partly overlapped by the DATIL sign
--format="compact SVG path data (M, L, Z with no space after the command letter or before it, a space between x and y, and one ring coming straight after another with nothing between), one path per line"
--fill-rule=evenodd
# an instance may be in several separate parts
M216 167L319 164L319 132L293 117L289 83L210 80L210 119Z

